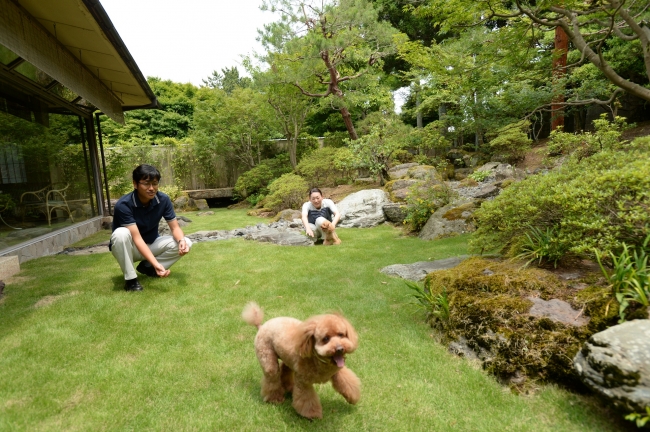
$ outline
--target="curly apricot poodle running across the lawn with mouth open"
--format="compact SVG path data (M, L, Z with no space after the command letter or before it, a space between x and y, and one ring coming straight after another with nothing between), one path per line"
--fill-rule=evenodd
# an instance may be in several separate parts
M263 312L256 303L246 305L242 318L258 328L255 353L264 372L261 394L265 402L281 403L286 393L292 393L298 414L322 418L314 384L327 381L348 403L359 401L359 378L345 367L345 355L357 349L358 337L345 318L327 314L301 322L279 317L262 325Z

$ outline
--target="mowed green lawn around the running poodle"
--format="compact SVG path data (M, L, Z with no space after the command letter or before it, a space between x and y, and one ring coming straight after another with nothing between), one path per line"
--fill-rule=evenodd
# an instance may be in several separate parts
M192 219L192 217L190 217ZM211 218L212 221L210 221ZM186 232L268 221L222 210ZM199 220L205 222L199 222ZM113 257L22 264L0 300L0 430L607 431L624 427L557 387L518 396L434 342L387 265L466 253L466 237L423 242L397 228L341 229L338 247L243 239L196 243L166 279L126 293ZM265 318L340 311L360 345L347 365L362 399L317 387L322 420L265 404L241 310Z

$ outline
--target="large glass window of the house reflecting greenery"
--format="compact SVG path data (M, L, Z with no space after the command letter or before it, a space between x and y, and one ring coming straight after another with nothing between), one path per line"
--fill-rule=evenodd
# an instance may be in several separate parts
M96 216L79 118L22 117L0 112L0 250Z

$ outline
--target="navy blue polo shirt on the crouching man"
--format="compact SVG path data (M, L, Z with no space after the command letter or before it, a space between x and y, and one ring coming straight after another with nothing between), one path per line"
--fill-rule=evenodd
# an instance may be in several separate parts
M176 219L174 206L167 195L156 192L149 205L144 207L137 191L124 195L115 204L113 211L113 231L119 227L137 225L145 243L151 244L158 238L158 223L161 218L167 222Z

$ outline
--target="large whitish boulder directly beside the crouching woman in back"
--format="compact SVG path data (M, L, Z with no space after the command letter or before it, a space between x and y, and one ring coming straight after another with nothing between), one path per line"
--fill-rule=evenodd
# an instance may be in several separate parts
M366 189L348 195L336 206L341 212L342 228L370 228L386 221L383 207L390 203L381 189Z

